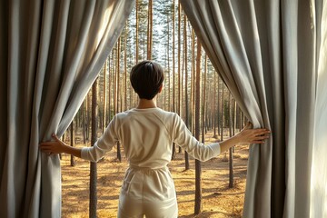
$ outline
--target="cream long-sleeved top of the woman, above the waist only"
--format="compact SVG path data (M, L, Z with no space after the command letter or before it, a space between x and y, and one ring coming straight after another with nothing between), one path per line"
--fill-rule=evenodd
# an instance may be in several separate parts
M116 114L94 146L82 149L82 158L97 162L118 141L123 144L130 165L135 167L166 166L171 161L173 143L200 161L220 154L218 143L200 143L178 114L149 108Z

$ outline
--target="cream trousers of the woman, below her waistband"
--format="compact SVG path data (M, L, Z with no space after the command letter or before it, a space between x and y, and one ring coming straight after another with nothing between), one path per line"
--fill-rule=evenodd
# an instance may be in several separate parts
M130 167L119 195L118 218L178 216L173 178L167 167Z

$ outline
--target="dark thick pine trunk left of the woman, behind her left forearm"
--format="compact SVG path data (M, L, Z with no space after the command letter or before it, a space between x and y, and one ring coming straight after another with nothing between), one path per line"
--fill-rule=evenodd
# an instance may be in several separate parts
M97 117L98 117L98 106L97 106L97 90L98 90L98 79L94 81L92 86L92 135L91 135L91 145L93 146L97 139ZM89 206L89 217L96 217L96 204L97 204L97 194L96 194L96 178L97 169L96 163L90 162L90 206Z

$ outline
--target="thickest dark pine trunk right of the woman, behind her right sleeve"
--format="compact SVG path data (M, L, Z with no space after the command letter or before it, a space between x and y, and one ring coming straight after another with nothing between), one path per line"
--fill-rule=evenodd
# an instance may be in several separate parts
M201 80L201 44L199 38L196 41L196 94L195 94L195 138L200 140L200 80ZM201 183L201 162L195 160L195 204L194 214L202 210L202 183Z

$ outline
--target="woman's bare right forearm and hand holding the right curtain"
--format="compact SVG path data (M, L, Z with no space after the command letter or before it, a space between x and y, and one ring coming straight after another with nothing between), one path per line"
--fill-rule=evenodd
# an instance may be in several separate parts
M233 137L221 142L221 153L227 151L235 144L263 144L264 140L268 139L269 134L271 133L267 129L251 128L252 124L248 123L240 133L235 134Z

